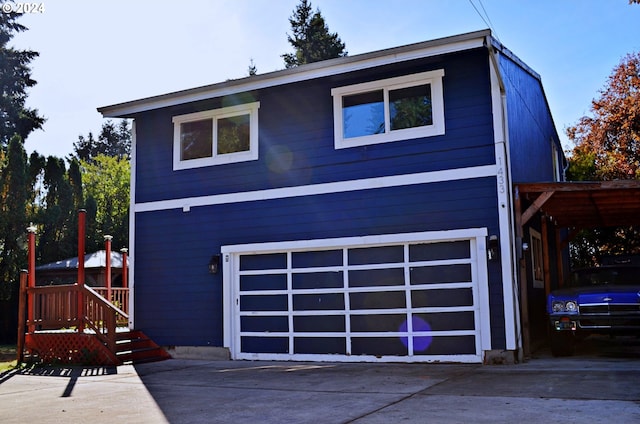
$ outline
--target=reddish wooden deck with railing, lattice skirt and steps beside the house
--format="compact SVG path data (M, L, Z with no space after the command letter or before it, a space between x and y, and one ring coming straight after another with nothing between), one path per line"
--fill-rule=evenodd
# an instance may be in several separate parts
M130 330L128 288L79 284L26 287L21 276L20 362L120 365L169 355L141 331ZM110 294L111 302L105 295ZM19 330L20 331L20 330Z

